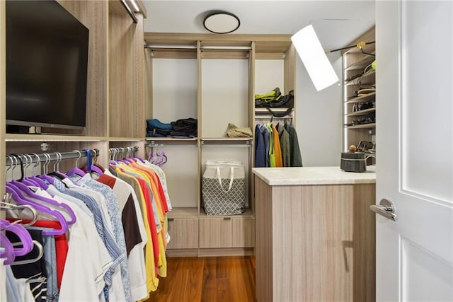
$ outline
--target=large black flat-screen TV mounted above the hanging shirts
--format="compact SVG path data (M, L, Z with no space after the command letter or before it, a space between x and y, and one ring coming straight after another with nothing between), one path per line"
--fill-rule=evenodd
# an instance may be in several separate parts
M6 124L84 129L88 28L57 1L6 1Z

